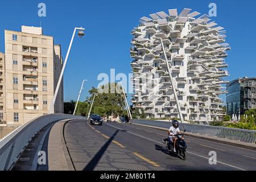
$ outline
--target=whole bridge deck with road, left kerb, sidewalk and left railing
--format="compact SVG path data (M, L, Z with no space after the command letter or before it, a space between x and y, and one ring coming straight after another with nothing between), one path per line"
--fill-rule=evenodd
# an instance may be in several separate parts
M28 171L92 170L255 170L255 133L234 130L245 142L188 132L187 160L168 154L162 139L168 122L132 120L91 126L86 117L49 114L0 140L0 169ZM185 126L195 130L194 126ZM200 127L200 126L197 126ZM211 131L211 132L210 132ZM220 129L218 129L220 131ZM196 131L197 132L197 131ZM228 133L230 134L229 131ZM224 132L225 133L225 132ZM220 134L220 132L218 132ZM254 139L251 144L250 138ZM241 138L241 136L240 136ZM249 142L249 143L248 143ZM209 152L216 163L209 164ZM44 159L45 157L45 159Z

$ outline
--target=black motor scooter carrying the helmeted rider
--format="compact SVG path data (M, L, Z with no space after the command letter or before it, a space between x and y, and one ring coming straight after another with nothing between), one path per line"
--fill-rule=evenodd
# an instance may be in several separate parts
M177 134L174 136L177 138L175 143L176 152L174 152L174 144L171 142L170 139L167 140L166 149L169 151L170 155L176 154L179 158L186 160L187 143L183 139L184 135Z

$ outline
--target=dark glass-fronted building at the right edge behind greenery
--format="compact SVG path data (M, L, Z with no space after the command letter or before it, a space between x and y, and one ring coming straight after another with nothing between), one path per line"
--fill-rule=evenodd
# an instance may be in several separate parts
M227 114L232 117L244 114L246 110L256 109L256 78L238 78L227 85Z

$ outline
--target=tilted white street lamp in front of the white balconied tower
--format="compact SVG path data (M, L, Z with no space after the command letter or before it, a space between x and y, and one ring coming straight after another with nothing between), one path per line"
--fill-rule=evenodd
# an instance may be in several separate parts
M172 89L174 89L174 97L175 97L177 109L178 109L178 111L179 111L180 122L183 123L183 115L182 115L182 113L181 113L180 103L179 103L179 100L178 100L178 98L177 98L177 93L176 93L176 90L175 90L174 81L172 80L171 69L170 69L170 65L169 65L169 63L168 63L168 61L167 61L166 50L164 49L163 40L162 40L162 38L157 38L157 37L155 37L154 39L156 39L155 44L156 44L156 43L159 43L158 40L160 40L160 43L161 43L161 45L162 45L162 49L163 49L163 52L164 52L164 59L165 59L165 61L166 61L167 70L168 70L168 73L169 73L169 76L170 76ZM182 126L183 126L183 125L182 125ZM183 129L184 129L184 126L183 126Z

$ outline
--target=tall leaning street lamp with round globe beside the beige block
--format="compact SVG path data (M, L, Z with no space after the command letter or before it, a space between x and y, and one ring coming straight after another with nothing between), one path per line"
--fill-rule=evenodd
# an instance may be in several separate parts
M61 83L61 80L63 78L63 73L64 73L64 69L65 69L65 66L67 64L67 60L68 60L68 56L69 56L69 52L71 50L71 46L72 46L72 43L73 43L73 40L74 40L74 37L75 37L75 34L76 34L76 31L79 30L78 32L78 35L80 38L82 38L84 36L84 28L77 28L75 27L74 29L74 32L73 32L73 35L72 35L72 38L71 38L71 42L69 43L69 47L68 47L68 52L67 52L67 55L65 57L65 61L64 61L64 64L63 64L63 67L61 69L61 72L60 72L60 77L59 77L59 81L57 83L57 86L56 86L56 89L55 89L55 93L54 93L54 96L52 98L52 103L51 103L51 107L49 109L49 113L48 114L52 114L52 111L53 111L53 107L54 107L54 104L55 104L55 100L56 100L56 97L57 97L57 93L59 92L59 88L60 88L60 83Z

